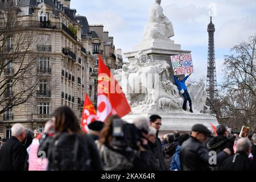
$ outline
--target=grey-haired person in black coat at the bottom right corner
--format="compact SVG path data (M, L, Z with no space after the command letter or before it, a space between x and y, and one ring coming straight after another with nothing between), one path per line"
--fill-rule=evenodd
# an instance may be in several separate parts
M237 140L237 152L224 160L220 166L220 171L247 171L252 169L253 163L249 159L251 152L251 142L247 138Z

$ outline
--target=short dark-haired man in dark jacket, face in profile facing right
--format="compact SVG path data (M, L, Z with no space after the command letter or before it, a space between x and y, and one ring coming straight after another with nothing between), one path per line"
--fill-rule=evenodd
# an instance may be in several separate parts
M164 163L164 156L162 152L162 147L161 147L161 141L158 138L158 133L160 130L160 127L162 125L162 118L159 115L151 115L150 116L150 125L151 127L154 127L156 129L156 138L155 138L155 148L154 148L154 154L156 160L158 160L159 165L160 165L160 170L161 171L166 171L166 164Z

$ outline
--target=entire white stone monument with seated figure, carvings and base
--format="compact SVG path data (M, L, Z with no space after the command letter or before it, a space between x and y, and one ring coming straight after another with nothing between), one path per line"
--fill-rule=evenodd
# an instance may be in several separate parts
M204 82L188 84L194 113L182 110L184 98L174 84L171 56L189 54L191 51L182 50L180 44L170 39L174 36L174 28L164 16L160 3L160 0L155 0L150 8L141 44L134 46L133 51L124 53L129 66L125 64L122 69L115 71L115 78L122 85L132 109L123 119L131 122L138 116L159 114L163 124L160 134L174 130L191 131L196 123L217 126L216 119L203 114L203 110L208 109L205 106Z

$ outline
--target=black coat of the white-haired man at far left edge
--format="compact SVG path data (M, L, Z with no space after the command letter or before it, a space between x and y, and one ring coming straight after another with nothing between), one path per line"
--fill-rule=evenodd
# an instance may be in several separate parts
M23 171L25 148L16 137L11 137L0 151L0 171Z

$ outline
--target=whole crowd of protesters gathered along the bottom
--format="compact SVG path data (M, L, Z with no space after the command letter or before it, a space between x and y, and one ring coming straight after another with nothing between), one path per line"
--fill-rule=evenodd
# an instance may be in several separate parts
M69 107L60 107L43 133L11 127L0 139L0 171L240 171L256 170L256 135L240 138L227 126L204 125L159 139L159 115L133 123L111 115L90 123L85 134Z

